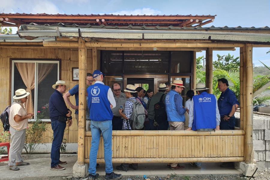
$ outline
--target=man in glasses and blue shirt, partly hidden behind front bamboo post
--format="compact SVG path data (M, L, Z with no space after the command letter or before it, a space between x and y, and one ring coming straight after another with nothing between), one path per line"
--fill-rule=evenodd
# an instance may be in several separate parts
M93 82L93 77L91 73L86 74L86 86L90 86ZM74 106L70 100L69 97L75 95L75 101L76 101L76 106ZM67 104L75 110L75 118L77 120L77 126L78 126L78 121L79 121L79 85L75 85L73 88L71 88L67 93L64 94L63 96L64 100L67 102ZM88 126L88 123L90 121L86 121L86 126Z

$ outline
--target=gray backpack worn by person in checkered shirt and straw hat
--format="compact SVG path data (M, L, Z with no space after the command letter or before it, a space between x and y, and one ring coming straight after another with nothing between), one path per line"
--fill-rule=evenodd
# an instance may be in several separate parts
M130 126L133 130L141 130L144 126L145 121L145 113L144 107L138 101L128 100L133 103L133 111L132 111L132 120L129 121Z

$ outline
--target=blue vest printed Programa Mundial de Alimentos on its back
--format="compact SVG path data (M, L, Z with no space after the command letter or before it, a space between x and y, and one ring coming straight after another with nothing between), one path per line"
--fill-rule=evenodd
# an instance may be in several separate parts
M108 100L109 86L96 83L87 88L88 107L92 121L111 121L113 112Z

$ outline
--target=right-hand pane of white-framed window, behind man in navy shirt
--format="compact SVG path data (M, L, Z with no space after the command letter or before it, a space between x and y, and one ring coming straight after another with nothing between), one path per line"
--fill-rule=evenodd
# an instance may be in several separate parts
M58 77L58 66L56 63L38 63L38 99L37 112L44 111L43 119L49 117L49 98L54 92L52 85L55 84Z

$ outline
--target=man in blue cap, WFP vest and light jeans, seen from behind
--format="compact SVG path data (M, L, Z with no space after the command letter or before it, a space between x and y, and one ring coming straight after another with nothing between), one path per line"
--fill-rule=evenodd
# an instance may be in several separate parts
M96 163L101 133L104 140L105 179L121 179L121 174L113 172L112 163L113 112L111 108L116 107L113 91L102 82L104 74L100 70L94 71L93 78L95 85L87 88L92 134L88 179L98 179L99 177L99 174L96 173Z

